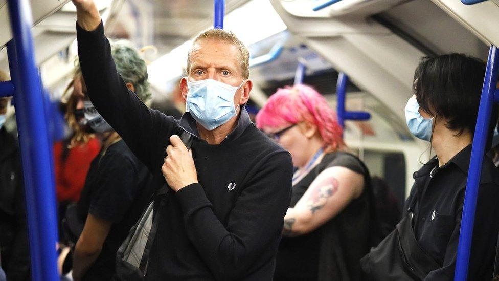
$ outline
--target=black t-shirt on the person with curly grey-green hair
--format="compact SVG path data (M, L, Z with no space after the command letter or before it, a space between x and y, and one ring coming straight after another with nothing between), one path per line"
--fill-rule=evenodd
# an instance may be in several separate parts
M84 223L90 213L112 226L85 280L109 280L115 273L116 252L150 202L151 183L149 170L123 140L92 161L78 202L78 218Z

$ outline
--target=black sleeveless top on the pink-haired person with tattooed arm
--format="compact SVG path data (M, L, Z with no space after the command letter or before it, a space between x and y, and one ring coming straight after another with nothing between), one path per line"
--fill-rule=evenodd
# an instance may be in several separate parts
M298 237L282 237L276 257L274 280L359 280L362 256L369 252L373 200L369 171L355 156L334 152L324 156L300 182L293 185L294 207L315 178L325 169L346 167L364 176L364 189L336 217Z

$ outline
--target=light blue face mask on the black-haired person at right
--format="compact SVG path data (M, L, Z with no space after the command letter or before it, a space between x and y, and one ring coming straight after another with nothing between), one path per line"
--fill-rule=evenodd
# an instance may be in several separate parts
M433 118L423 118L419 113L418 101L411 97L405 105L405 122L409 131L418 139L432 140Z

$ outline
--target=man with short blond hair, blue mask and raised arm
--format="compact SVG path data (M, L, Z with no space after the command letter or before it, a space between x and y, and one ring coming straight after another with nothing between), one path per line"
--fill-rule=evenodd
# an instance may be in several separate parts
M251 123L247 48L231 32L198 35L180 82L180 120L149 110L125 87L95 5L77 7L78 52L97 111L151 170L159 223L148 280L271 280L290 202L289 153ZM192 135L189 152L179 135ZM185 135L185 133L184 133Z

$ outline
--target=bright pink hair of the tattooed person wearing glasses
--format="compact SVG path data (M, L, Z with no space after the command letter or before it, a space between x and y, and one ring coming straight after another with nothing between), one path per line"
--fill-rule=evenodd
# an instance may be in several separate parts
M298 84L278 89L256 116L256 125L260 129L280 128L303 121L317 126L324 143L332 150L345 146L336 112L310 86Z

